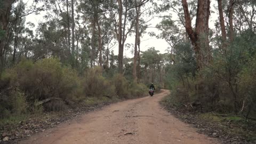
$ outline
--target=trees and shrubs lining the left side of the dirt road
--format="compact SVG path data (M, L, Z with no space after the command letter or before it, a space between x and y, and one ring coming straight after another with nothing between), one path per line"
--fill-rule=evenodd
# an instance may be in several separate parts
M157 90L164 87L167 54L140 50L145 18L152 17L146 4L152 3L0 1L2 131L33 115L143 97L152 82ZM43 21L27 21L40 13ZM130 35L136 35L134 44L125 43ZM124 47L134 58L123 54Z

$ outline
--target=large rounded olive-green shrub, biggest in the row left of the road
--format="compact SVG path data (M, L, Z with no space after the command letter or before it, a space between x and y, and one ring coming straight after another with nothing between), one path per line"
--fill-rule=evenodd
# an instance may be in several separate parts
M43 59L34 66L31 62L21 62L17 68L20 89L26 92L28 100L68 99L77 86L76 73L62 68L57 59Z

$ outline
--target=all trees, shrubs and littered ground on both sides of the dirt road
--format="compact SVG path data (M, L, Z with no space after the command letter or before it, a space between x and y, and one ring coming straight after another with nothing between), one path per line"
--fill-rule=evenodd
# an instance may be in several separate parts
M255 7L254 0L2 0L0 128L51 111L69 115L70 109L142 97L154 83L171 90L163 105L181 118L219 125L213 129L231 142L239 135L253 143ZM38 25L26 21L43 11ZM148 31L156 15L162 19L153 26L157 34ZM145 35L164 39L167 52L142 51ZM126 42L129 36L134 43Z

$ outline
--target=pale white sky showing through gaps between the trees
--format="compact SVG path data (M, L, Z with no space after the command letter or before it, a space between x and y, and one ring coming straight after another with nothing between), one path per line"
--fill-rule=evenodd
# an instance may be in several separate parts
M24 0L24 2L28 2L28 4L31 4L33 2L33 0ZM215 4L215 2L211 3L211 11L214 10L213 8L213 4ZM44 12L42 12L44 13ZM215 13L211 13L211 18L210 18L210 28L214 28L214 20L218 18L218 12ZM177 19L177 14L172 13L172 19ZM35 14L30 14L26 17L26 22L33 22L35 23L37 28L37 24L38 22L44 21L43 19L43 14L39 14L39 15L35 15ZM153 18L149 23L150 23L150 27L155 27L157 25L157 23L161 22L161 19L159 19L158 17ZM147 33L154 31L156 34L161 33L161 31L159 31L156 28L148 28L147 29ZM156 50L160 51L161 53L166 53L167 47L169 47L169 45L167 44L167 42L165 42L164 39L157 39L156 37L150 37L148 34L143 34L142 38L141 38L141 51L146 51L149 47L155 47ZM126 43L131 43L134 44L134 36L130 36L126 39ZM133 54L131 53L131 50L127 50L127 48L124 48L124 55L126 55L127 57L133 57ZM114 48L114 53L117 55L118 54L118 45Z

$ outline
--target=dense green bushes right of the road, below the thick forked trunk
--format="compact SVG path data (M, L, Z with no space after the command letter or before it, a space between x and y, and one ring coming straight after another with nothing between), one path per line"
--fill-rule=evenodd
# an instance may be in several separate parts
M198 71L187 42L175 47L175 65L168 67L171 105L202 112L256 118L254 33L243 33L225 51L213 49L212 63Z

